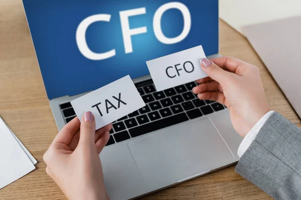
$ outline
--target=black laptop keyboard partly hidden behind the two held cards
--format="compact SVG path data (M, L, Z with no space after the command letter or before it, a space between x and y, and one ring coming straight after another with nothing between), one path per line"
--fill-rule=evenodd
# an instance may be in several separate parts
M196 82L158 92L152 80L135 85L146 105L113 121L106 145L225 109L225 106L218 102L197 98L191 91L197 85ZM66 123L76 117L70 102L63 103L60 107Z

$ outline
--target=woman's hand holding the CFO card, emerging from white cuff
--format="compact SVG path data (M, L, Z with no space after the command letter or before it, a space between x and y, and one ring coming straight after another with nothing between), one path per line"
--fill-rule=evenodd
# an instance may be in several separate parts
M201 66L209 77L197 80L193 92L226 105L234 129L244 137L270 110L258 67L232 57L203 58Z

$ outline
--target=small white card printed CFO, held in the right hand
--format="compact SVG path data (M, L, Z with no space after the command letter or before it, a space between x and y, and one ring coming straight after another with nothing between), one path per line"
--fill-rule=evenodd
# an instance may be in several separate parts
M200 60L206 57L202 45L146 61L157 91L191 82L208 75Z

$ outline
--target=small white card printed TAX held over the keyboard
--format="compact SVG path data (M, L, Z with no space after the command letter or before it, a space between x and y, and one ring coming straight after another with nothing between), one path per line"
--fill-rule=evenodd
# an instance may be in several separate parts
M79 120L85 111L91 111L96 129L145 106L129 75L76 98L71 104Z

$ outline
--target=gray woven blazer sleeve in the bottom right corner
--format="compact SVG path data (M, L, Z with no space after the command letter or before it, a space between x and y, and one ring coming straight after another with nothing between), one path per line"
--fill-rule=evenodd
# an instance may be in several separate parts
M301 199L301 130L274 112L235 170L275 199Z

